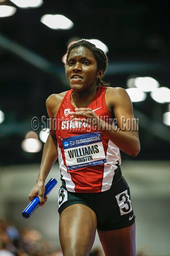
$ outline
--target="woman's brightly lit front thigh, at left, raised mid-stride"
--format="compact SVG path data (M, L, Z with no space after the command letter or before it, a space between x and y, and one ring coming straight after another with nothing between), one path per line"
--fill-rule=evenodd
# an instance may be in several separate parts
M63 256L89 255L95 240L96 214L84 204L65 208L59 221L59 237Z

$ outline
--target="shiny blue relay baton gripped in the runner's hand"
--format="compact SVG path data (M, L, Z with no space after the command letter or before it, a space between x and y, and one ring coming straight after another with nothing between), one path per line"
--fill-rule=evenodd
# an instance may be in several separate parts
M45 185L45 193L44 197L48 196L48 194L51 192L51 190L56 186L57 181L55 178L51 178L49 182ZM36 210L36 208L40 205L40 199L39 197L35 197L26 207L25 210L22 212L22 216L25 219L28 219L31 214Z

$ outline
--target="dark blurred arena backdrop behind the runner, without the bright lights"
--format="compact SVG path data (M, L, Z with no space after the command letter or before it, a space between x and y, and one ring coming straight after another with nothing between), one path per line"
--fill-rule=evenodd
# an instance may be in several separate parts
M1 5L15 6L8 0ZM74 27L51 30L40 22L44 14L62 14ZM44 0L39 8L17 7L15 15L0 18L0 110L5 113L0 165L41 161L42 150L26 153L21 142L32 130L32 118L47 116L46 98L69 90L61 59L74 37L107 45L110 64L104 80L111 86L126 89L129 78L151 76L170 88L169 0ZM147 93L133 107L140 119L141 151L136 158L121 152L122 158L169 160L170 128L162 122L168 103L155 102Z

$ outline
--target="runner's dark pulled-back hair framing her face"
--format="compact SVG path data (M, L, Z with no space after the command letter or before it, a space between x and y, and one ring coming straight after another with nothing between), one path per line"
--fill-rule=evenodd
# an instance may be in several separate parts
M90 52L94 55L96 62L97 62L97 70L101 70L103 69L103 75L104 72L106 71L107 68L107 64L108 64L108 58L107 55L103 52L103 50L97 48L95 46L95 44L90 43L89 41L86 40L80 40L74 44L72 44L69 48L68 51L66 53L66 64L67 64L67 60L69 58L69 54L71 52L71 50L75 47L86 47L87 49L90 50ZM100 86L109 86L108 83L102 81L101 79L98 79L98 85Z

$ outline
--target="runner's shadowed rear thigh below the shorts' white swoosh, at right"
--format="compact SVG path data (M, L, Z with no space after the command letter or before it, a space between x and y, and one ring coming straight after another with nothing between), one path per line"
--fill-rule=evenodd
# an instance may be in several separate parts
M97 232L105 256L135 256L135 223L128 228Z

